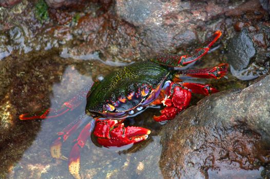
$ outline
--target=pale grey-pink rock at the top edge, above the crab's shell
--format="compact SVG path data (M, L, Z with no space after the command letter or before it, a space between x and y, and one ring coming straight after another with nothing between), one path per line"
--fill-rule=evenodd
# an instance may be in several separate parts
M222 30L221 21L225 20L223 14L239 6L237 2L231 1L172 3L119 0L116 1L115 11L118 17L135 27L143 39L144 49L148 50L148 55L151 56L153 52L185 51L187 44L196 43L202 36L210 35L211 30ZM213 19L220 23L209 23L209 26L205 27L205 23ZM143 53L149 53L145 50Z

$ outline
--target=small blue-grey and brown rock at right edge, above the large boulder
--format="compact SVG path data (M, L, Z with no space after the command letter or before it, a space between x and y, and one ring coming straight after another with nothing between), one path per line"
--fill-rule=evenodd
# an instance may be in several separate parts
M240 31L230 38L226 58L230 72L241 80L250 80L269 71L270 28L265 23L237 23Z

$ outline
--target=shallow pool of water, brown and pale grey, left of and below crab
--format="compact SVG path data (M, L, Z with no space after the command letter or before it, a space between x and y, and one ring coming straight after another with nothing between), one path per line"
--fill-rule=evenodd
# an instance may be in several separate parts
M13 155L14 158L6 163L6 166L2 166L1 174L7 174L7 178L72 178L68 171L67 161L52 159L50 144L56 139L57 132L84 113L86 101L83 102L81 107L71 111L69 114L64 114L55 119L19 121L18 115L46 107L60 107L65 100L79 92L86 84L92 83L93 79L105 76L112 69L115 70L114 66L108 66L98 60L62 61L57 56L50 56L50 58L58 58L57 60L63 63L57 64L51 60L46 61L48 58L36 58L34 60L36 63L46 64L46 67L39 66L33 69L31 65L33 61L31 62L31 60L24 61L24 65L14 64L13 66L13 70L18 74L19 79L16 81L11 77L12 82L9 85L9 92L5 95L10 101L11 108L16 109L16 113L10 116L10 120L14 120L15 124L7 127L7 133L5 133L6 136L4 137L6 142L3 142L11 148L9 151L12 151L12 153L2 153L3 159L9 160L10 155ZM4 59L2 62L5 66L8 66L9 60ZM20 61L21 59L17 60ZM65 67L63 68L63 66ZM22 90L12 89L18 85L22 85ZM147 175L148 177L156 176L161 178L162 175L158 167L161 145L159 144L160 137L156 136L161 126L151 119L153 113L156 112L157 110L150 109L143 115L136 117L136 119L127 121L132 125L145 126L152 130L152 135L146 142L133 146L129 150L108 150L107 148L98 147L91 140L88 140L81 151L82 175L89 178L137 178L139 176L147 177ZM18 125L21 126L20 129L11 132ZM79 132L80 130L64 143L64 155L68 156L72 141ZM26 138L26 136L31 136L31 138ZM28 142L12 142L12 140L19 138L20 140L28 140ZM23 147L26 150L16 151L16 148L20 148L18 145L26 145ZM7 152L5 147L2 148L2 152ZM151 153L151 155L148 155L148 153ZM148 159L149 157L151 159ZM149 171L151 172L149 173Z

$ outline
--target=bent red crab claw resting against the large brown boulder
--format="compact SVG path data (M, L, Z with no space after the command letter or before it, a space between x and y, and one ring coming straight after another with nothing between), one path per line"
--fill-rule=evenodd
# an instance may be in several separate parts
M157 122L165 122L175 118L190 102L191 93L180 84L171 82L167 88L169 90L165 89L165 91L168 93L163 99L163 104L166 107L160 111L161 116L153 116L153 119ZM160 101L160 99L158 100Z

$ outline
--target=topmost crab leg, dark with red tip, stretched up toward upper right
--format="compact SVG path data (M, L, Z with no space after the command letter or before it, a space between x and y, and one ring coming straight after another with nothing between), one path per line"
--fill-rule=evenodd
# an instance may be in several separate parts
M156 58L152 59L152 61L155 61L165 66L172 66L172 67L186 66L187 64L190 64L200 59L202 56L204 56L209 51L209 48L218 40L221 34L222 33L220 31L216 31L213 34L213 36L211 36L205 42L203 42L202 48L195 50L194 54L191 55L160 54Z

